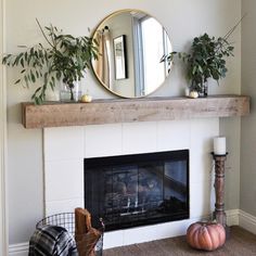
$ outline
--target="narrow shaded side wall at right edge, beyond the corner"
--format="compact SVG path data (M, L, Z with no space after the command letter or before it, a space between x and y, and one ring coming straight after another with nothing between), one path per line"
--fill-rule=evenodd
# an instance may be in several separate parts
M252 98L251 115L242 118L240 208L256 216L256 1L243 0L242 93Z

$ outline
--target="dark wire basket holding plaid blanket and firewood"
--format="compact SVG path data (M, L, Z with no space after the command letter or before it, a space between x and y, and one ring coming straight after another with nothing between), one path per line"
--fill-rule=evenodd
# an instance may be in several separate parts
M98 241L94 249L97 256L102 256L103 253L103 234L104 234L104 223L102 219L99 219L100 227L97 227L101 231L101 238ZM75 236L75 214L74 213L62 213L48 216L37 222L36 228L40 229L46 225L59 226L65 228L73 236Z

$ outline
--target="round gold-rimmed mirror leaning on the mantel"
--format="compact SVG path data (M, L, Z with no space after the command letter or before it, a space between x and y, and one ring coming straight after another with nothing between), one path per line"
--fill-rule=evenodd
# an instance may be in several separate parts
M139 10L123 10L107 16L95 29L100 55L92 61L99 81L124 98L155 91L170 72L163 55L171 52L165 28Z

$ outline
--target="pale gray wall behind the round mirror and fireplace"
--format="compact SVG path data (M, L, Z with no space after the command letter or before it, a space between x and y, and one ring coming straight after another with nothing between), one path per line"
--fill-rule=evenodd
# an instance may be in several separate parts
M253 1L251 1L253 3ZM93 29L103 17L120 9L140 9L155 16L170 36L174 50L188 49L193 37L203 33L223 36L241 16L241 0L8 0L7 1L7 46L8 52L17 52L18 44L33 46L42 38L35 18L42 26L53 25L64 33L86 35L87 28ZM22 11L23 10L23 11ZM252 23L253 24L253 23ZM253 26L253 25L252 25ZM252 29L253 30L253 29ZM236 93L241 81L240 28L232 35L235 41L234 57L228 62L229 73L218 87L210 82L209 93ZM26 130L21 125L21 105L28 101L33 89L13 86L17 69L8 71L8 154L9 154L9 222L10 243L27 242L35 223L43 216L43 166L42 131ZM89 89L93 98L114 98L95 81L90 72L82 81L84 90ZM181 95L187 86L184 76L176 65L163 87L152 97ZM228 120L227 120L228 121ZM240 141L239 120L223 120L225 136L230 141ZM239 142L238 142L239 143ZM249 143L249 142L248 142ZM236 156L238 149L233 149ZM236 151L236 152L235 152ZM239 157L236 159L239 162ZM238 208L239 165L230 162L235 170L233 185L227 188L229 208ZM207 171L207 170L206 170ZM251 180L252 181L252 180Z

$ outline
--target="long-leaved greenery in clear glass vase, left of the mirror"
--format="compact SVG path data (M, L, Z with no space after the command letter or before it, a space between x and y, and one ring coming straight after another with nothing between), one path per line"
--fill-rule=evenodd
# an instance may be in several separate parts
M42 85L31 95L36 104L46 100L46 91L54 90L56 81L65 84L69 90L69 101L76 101L76 84L85 76L86 69L90 68L91 60L98 59L98 42L86 36L64 35L52 25L46 26L44 33L38 20L36 21L48 47L38 43L18 54L7 54L2 63L22 67L21 77L15 84L24 81L28 87L42 80Z

